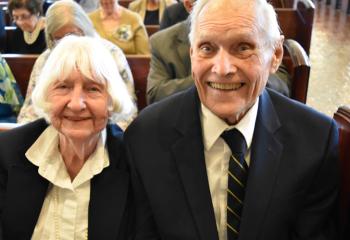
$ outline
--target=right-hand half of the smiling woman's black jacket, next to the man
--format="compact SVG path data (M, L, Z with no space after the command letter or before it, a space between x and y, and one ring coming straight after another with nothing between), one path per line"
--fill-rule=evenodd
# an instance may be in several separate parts
M129 174L123 168L124 150L116 138L115 126L108 128L109 167L91 181L89 239L117 239L125 214L129 192Z

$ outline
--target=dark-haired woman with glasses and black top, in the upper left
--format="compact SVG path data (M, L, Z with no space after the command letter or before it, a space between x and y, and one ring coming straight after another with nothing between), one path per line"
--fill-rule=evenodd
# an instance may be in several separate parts
M8 10L17 28L8 43L9 53L42 53L46 49L41 0L10 0Z

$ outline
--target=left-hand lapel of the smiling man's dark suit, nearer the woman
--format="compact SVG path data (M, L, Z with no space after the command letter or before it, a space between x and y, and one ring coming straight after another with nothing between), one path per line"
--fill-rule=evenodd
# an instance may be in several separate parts
M208 177L205 167L199 100L195 88L187 92L175 128L182 135L172 146L172 154L197 226L200 239L218 239Z

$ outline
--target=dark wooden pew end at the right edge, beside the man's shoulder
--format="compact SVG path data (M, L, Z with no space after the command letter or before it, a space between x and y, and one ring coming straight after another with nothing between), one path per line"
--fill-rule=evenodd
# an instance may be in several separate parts
M341 172L341 186L339 199L339 226L343 235L341 239L349 239L350 230L350 106L339 107L333 118L339 128L339 159Z

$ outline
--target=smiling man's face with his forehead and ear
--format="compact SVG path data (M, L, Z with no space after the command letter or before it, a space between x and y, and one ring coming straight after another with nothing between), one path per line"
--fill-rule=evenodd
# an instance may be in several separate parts
M252 2L211 1L198 16L193 79L201 102L229 124L255 103L276 68L264 42Z

